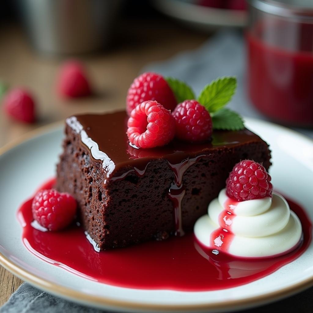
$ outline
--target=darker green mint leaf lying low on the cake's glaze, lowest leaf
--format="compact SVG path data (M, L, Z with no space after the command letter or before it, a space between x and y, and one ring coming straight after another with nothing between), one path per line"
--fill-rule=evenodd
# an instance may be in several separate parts
M244 129L244 121L242 117L229 109L220 109L216 113L211 114L213 129L225 129L228 131L239 131Z

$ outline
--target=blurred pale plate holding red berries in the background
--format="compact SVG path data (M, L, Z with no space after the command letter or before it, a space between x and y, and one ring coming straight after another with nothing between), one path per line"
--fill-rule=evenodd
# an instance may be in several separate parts
M247 22L248 13L244 10L210 8L190 0L154 0L152 3L162 13L201 30L244 27Z

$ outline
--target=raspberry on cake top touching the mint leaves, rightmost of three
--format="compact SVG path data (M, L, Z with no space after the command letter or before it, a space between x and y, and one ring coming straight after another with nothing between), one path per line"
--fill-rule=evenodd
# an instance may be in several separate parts
M207 140L212 135L210 113L196 100L185 100L172 112L176 137L187 141Z

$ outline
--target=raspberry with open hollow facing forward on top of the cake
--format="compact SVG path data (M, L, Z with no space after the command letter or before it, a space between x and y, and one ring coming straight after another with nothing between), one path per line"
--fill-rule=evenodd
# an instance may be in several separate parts
M127 122L129 141L140 148L164 146L175 135L175 122L169 110L156 101L145 101L131 111Z

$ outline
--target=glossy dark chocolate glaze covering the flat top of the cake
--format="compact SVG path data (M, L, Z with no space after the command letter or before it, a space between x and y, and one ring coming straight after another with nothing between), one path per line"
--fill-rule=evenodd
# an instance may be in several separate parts
M127 115L125 111L103 115L76 115L66 120L67 124L81 135L83 146L95 161L103 162L106 177L115 177L122 167L133 167L143 175L149 161L166 159L174 166L189 158L208 155L225 146L232 147L261 141L259 136L245 129L242 131L214 131L212 141L188 143L173 140L167 146L153 149L138 149L129 145L126 136ZM125 173L126 175L126 173ZM116 177L122 178L122 177Z

